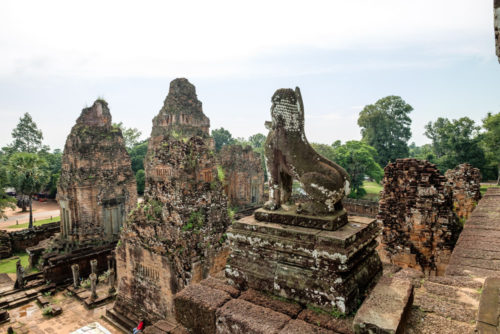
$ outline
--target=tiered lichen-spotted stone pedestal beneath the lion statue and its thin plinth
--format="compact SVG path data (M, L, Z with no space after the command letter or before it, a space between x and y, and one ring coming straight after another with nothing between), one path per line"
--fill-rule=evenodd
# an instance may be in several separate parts
M297 226L306 221L315 228ZM382 272L377 233L374 219L347 219L345 211L318 217L259 209L227 233L226 277L240 289L351 312Z

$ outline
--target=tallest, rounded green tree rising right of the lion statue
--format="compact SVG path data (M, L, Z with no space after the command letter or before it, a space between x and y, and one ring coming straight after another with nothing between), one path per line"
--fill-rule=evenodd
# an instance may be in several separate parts
M375 148L380 166L408 156L413 107L399 96L384 97L369 104L359 113L363 141Z

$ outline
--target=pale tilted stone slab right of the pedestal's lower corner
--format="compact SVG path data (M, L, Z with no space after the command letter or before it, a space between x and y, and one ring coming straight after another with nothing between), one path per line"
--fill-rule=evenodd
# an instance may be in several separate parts
M354 318L356 334L403 333L413 303L413 285L407 279L382 277Z

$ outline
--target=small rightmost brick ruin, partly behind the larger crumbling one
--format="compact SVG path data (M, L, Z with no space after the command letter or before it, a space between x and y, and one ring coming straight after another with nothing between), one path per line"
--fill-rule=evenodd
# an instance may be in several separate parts
M481 199L481 172L465 163L444 174L453 191L453 207L458 218L465 222Z

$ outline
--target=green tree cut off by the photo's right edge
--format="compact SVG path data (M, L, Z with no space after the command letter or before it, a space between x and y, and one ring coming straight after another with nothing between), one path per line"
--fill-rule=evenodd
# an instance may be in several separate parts
M486 154L486 168L490 171L486 177L497 179L500 185L500 113L488 113L483 119L483 128L486 130L483 134L483 147Z

